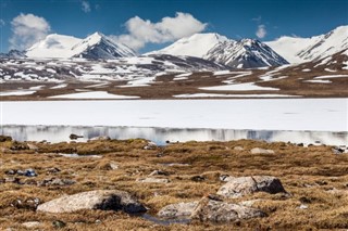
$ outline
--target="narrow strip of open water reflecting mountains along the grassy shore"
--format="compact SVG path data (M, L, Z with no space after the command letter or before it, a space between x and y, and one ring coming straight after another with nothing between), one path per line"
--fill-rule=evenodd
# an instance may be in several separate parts
M330 145L347 145L348 132L327 131L270 131L270 130L232 130L232 129L176 129L142 127L75 127L75 126L3 126L0 133L11 136L18 141L49 142L70 141L71 133L84 136L80 141L109 136L112 139L144 138L158 144L166 141L228 141L239 139L284 141L293 143L314 143L320 141Z

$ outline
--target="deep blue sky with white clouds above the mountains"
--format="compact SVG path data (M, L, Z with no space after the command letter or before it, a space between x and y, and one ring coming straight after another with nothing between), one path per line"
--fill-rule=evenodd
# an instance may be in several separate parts
M232 39L258 38L269 41L283 35L311 37L348 24L348 0L0 0L0 52L16 46L24 48L51 33L84 38L95 31L101 31L113 35L123 42L129 42L139 52L145 52L162 48L184 35L197 31L219 33ZM185 14L178 15L177 12ZM30 17L27 17L29 14ZM163 17L172 17L173 25L161 23ZM38 28L30 28L34 24ZM149 26L152 30L139 34L144 26Z

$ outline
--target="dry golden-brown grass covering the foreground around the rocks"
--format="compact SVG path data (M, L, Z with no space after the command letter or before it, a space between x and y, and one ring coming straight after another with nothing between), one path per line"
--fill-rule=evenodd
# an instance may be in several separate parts
M11 142L0 143L0 179L8 178L9 169L33 168L38 177L18 177L22 182L47 178L72 179L72 185L38 187L34 184L1 183L0 227L25 230L21 223L40 221L44 230L53 230L52 221L62 220L67 226L62 230L316 230L348 229L348 155L335 155L331 146L300 147L283 142L239 140L231 142L187 142L175 143L156 150L144 150L145 140L92 141L87 143L36 143L38 151L10 151ZM234 150L243 146L244 151ZM252 147L271 149L275 154L252 155ZM54 153L101 154L102 158L69 158ZM161 153L161 155L158 155ZM110 170L108 163L119 164L119 169ZM169 163L189 166L167 166ZM51 174L49 168L61 171ZM140 183L136 179L148 176L153 170L164 170L167 184ZM163 206L178 202L191 202L208 193L215 193L224 183L219 177L271 175L278 177L286 191L282 194L256 193L241 202L260 198L254 207L268 214L265 218L238 221L231 224L200 223L160 226L141 217L130 217L123 213L82 210L75 214L36 213L30 198L40 202L57 198L63 194L97 190L117 189L130 192L141 203L156 213ZM202 181L192 177L201 176ZM15 203L21 198L22 205ZM300 209L301 204L308 209Z

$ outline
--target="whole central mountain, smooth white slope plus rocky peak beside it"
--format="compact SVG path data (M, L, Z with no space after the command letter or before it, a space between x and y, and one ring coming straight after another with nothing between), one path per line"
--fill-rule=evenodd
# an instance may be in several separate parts
M235 41L219 34L195 34L150 54L189 55L233 68L279 66L287 62L257 40Z

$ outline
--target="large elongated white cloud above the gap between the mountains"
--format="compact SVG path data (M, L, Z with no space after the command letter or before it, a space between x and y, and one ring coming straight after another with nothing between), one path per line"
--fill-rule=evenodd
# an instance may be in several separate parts
M163 17L158 23L135 16L125 23L127 34L111 37L139 50L149 42L163 43L191 36L204 30L207 25L207 23L196 20L191 14L182 12L176 13L175 17Z

